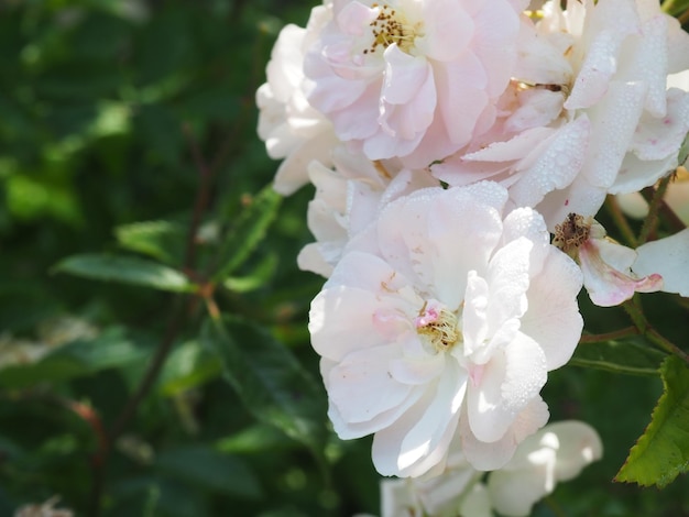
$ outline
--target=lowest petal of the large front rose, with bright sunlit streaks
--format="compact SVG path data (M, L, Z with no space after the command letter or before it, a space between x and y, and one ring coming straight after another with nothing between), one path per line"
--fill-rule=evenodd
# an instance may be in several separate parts
M394 426L375 433L373 463L382 475L419 476L447 455L466 389L466 373L448 361L435 388Z

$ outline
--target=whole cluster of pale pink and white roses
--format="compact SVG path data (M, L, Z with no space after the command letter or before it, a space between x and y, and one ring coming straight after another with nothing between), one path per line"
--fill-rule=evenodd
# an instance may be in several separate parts
M689 231L632 250L593 219L680 165L689 92L668 77L689 34L658 0L527 6L324 0L283 29L256 95L276 190L316 187L298 264L327 278L309 331L336 432L373 435L383 475L422 493L459 475L464 503L488 491L505 515L525 515L503 503L531 494L507 487L526 455L550 488L510 503L525 512L581 466L534 452L581 286L600 306L689 294Z

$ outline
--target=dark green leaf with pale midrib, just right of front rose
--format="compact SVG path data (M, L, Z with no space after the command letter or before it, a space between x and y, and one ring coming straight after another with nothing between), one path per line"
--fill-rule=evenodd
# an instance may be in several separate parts
M569 360L571 366L582 366L627 375L657 376L663 352L652 349L636 339L586 343L577 346Z

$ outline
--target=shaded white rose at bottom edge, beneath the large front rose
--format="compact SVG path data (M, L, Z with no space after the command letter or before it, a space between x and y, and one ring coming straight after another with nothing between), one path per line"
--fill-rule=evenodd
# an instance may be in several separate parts
M495 510L507 517L528 516L535 503L600 460L602 452L598 432L577 420L548 424L520 443L506 465L488 475L453 448L438 476L383 480L381 515L493 517Z

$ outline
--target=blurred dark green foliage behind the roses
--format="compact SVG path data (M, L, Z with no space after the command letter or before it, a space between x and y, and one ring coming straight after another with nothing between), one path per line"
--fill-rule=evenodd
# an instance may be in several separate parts
M343 443L327 430L308 343L322 279L295 260L310 240L313 189L282 202L262 190L276 163L255 135L253 96L280 29L304 25L310 7L0 0L0 516L54 495L76 515L379 513L370 439ZM223 337L198 298L54 270L83 253L186 266L198 284L234 261L214 284L219 310L236 318L234 352L212 348ZM582 307L592 331L628 324L616 309ZM110 440L178 318L160 375ZM245 389L237 354L253 369ZM544 391L553 418L593 425L605 455L535 515L689 515L683 476L663 492L611 481L660 391L654 376L554 372Z

